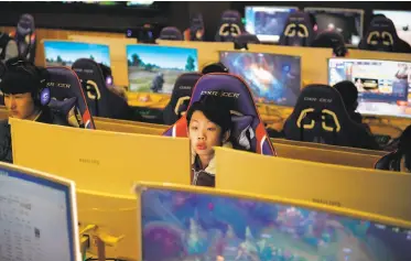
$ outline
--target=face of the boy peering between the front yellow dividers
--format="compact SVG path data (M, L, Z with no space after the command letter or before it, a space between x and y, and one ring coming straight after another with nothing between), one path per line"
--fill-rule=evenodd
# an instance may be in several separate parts
M205 117L202 111L194 111L188 126L188 137L197 155L212 155L213 146L221 145L221 128Z

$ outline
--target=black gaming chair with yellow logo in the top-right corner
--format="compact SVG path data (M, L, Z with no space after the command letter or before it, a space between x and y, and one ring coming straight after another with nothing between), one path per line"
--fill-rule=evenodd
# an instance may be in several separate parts
M385 17L375 17L358 44L358 48L368 51L411 53L410 45L401 40L392 21Z

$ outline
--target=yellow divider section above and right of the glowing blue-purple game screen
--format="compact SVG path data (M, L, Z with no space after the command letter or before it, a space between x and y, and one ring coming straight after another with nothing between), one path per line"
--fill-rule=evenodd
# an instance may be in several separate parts
M248 51L301 56L302 87L309 84L328 83L328 58L333 57L332 48L249 44Z

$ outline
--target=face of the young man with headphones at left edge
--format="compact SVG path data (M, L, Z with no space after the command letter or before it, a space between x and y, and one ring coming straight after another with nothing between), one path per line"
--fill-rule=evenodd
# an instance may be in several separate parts
M35 111L34 101L30 93L25 94L4 94L4 105L10 117L17 119L28 119Z

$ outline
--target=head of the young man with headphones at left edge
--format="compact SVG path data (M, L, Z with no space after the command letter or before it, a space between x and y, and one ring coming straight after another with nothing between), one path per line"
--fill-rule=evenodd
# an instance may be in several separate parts
M26 62L24 62L26 63ZM32 64L9 61L2 75L0 90L4 96L4 106L10 117L33 119L41 109L37 94L42 77Z

